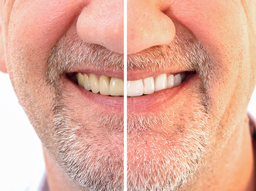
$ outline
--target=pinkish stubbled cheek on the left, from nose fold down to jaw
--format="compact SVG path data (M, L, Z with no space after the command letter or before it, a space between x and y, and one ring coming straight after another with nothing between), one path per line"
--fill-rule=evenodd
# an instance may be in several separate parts
M79 14L80 0L16 0L6 34L8 69L20 104L39 136L49 133L53 90L47 83L47 59L56 41ZM48 120L48 121L45 121Z

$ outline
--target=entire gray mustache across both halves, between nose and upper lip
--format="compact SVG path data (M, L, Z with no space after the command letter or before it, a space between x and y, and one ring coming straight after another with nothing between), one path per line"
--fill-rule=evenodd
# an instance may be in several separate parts
M123 69L123 54L98 44L87 43L77 33L64 35L50 52L48 79L54 82L62 73L72 72L72 68L80 65L113 71ZM207 86L211 74L211 59L204 46L193 35L176 34L168 45L152 46L127 55L127 70L154 71L171 66L196 71L202 83Z

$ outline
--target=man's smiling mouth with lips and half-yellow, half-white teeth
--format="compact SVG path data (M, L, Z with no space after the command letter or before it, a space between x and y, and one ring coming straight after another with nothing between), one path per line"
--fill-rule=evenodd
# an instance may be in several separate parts
M179 101L187 102L191 98L188 92L200 83L195 71L160 72L127 74L128 79L133 79L127 80L129 114L161 112L166 105L174 108ZM93 71L79 71L66 73L65 78L79 99L116 113L123 112L123 75L120 73L107 76ZM140 76L143 78L140 79Z

